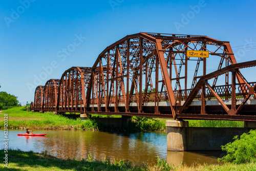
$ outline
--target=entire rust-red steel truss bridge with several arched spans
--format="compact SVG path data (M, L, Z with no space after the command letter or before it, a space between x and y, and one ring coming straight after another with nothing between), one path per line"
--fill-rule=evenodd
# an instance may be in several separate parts
M189 57L187 50L209 58ZM92 67L72 67L38 86L31 109L256 121L256 82L240 72L254 66L256 60L237 63L228 41L141 32L106 47Z

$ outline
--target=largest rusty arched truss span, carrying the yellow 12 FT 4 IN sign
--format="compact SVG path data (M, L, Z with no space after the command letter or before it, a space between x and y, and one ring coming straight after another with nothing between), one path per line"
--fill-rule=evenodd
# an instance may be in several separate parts
M211 58L219 60L215 70L237 63L227 41L198 35L128 35L107 47L97 58L92 74L94 84L90 84L89 88L93 99L88 103L86 112L138 116L150 114L176 118L181 102L186 100L198 80L207 74L207 59L188 57L186 50L208 51ZM194 77L189 82L188 67L193 69L191 61L197 63L194 66ZM203 71L199 73L199 70ZM236 79L241 86L246 82L239 69ZM214 77L212 87L217 86L217 80L218 76ZM225 87L229 85L228 80L227 72ZM188 86L191 89L187 89ZM205 85L201 89L203 93L208 90ZM247 92L247 88L241 90ZM227 94L228 90L225 91ZM205 99L202 100L200 113L205 114Z

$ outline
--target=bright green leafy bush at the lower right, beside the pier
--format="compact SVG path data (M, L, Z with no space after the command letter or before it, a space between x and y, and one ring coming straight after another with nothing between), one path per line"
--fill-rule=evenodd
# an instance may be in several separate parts
M235 136L234 142L222 145L222 150L227 155L220 160L233 163L247 163L256 161L256 130L241 135L240 139Z

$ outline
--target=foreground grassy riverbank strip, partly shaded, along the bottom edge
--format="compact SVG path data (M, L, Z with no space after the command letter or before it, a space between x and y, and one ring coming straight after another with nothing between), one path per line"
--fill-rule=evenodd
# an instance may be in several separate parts
M158 159L154 166L148 166L145 163L134 166L130 161L105 159L99 161L88 155L86 159L58 159L50 156L46 152L41 154L34 152L23 152L20 150L9 149L5 153L3 149L0 151L1 156L8 154L8 167L5 163L0 163L1 170L256 170L256 163L232 164L226 163L223 165L204 164L194 166L185 165L169 165L165 160Z

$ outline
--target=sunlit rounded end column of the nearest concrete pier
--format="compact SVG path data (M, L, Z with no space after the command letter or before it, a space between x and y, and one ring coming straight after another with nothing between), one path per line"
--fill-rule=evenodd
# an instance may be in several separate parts
M166 120L167 151L186 151L188 121Z

